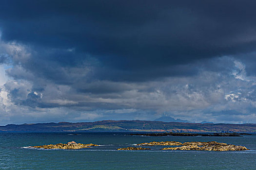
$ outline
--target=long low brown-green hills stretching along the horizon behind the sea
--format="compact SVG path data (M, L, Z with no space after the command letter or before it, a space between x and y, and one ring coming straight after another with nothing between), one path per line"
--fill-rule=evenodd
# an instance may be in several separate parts
M8 124L0 132L241 132L256 133L256 124L202 124L144 120L103 120L95 122L59 122Z

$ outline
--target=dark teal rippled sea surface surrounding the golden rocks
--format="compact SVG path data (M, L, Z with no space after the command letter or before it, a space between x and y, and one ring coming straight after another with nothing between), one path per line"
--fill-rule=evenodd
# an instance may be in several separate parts
M256 170L256 135L243 137L127 136L129 133L0 133L0 170ZM67 143L101 146L42 150L28 146ZM250 151L117 151L151 141L217 141Z

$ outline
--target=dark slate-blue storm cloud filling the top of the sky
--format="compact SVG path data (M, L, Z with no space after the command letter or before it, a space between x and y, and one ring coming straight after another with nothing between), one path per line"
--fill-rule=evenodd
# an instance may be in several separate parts
M76 66L90 54L104 66L98 78L139 81L193 74L170 66L254 51L255 7L238 0L3 0L0 27L3 40L40 52L26 67L39 60L42 67ZM54 76L49 68L41 74Z

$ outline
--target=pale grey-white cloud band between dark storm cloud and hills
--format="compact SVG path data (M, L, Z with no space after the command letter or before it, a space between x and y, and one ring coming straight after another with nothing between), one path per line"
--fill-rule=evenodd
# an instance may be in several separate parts
M256 78L248 78L245 64L232 57L209 59L207 62L211 63L212 70L202 67L194 76L146 82L86 81L95 68L82 63L61 67L61 74L71 82L58 84L24 68L22 63L29 61L32 55L27 47L13 42L1 43L0 49L14 62L8 70L0 66L0 116L4 118L0 123L83 121L108 119L112 115L123 119L155 119L163 113L197 122L225 122L228 120L222 119L221 110L232 109L242 111L230 122L237 122L238 118L246 122L256 121L252 112L256 110ZM215 66L218 60L227 66ZM32 94L39 99L34 99ZM219 114L213 114L217 112ZM248 119L248 115L252 119Z

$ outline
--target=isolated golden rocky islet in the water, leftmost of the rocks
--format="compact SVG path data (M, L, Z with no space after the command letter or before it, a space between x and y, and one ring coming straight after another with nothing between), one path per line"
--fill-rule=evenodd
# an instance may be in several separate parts
M91 148L93 146L99 146L96 144L82 144L76 143L74 141L68 142L66 144L58 143L58 144L50 144L50 145L40 145L40 146L32 146L31 148L42 148L42 149L82 149L82 148Z

